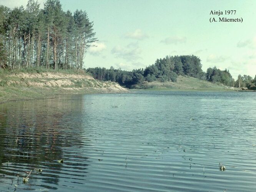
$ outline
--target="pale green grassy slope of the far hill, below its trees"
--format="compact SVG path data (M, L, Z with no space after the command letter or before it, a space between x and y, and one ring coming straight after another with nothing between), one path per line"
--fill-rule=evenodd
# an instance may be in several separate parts
M209 81L193 78L190 76L178 76L177 82L143 82L135 85L135 89L146 89L154 91L237 91L239 88L213 84Z

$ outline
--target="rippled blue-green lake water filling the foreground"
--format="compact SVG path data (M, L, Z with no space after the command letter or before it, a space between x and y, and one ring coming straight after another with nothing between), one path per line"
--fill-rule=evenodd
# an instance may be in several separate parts
M255 181L255 92L0 104L0 191L254 192Z

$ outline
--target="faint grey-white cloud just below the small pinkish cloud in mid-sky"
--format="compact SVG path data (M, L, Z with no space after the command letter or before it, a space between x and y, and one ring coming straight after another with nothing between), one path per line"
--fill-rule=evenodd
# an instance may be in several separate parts
M135 61L140 57L141 48L138 46L138 43L130 43L127 46L115 46L111 53L113 53L117 58L123 58L126 61Z

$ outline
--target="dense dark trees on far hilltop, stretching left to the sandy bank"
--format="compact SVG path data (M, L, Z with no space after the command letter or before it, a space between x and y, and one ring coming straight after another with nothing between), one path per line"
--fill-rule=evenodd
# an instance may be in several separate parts
M173 81L177 80L178 75L188 75L203 79L205 73L202 70L201 60L194 55L166 56L163 59L157 59L155 64L144 69L133 71L123 71L121 69L106 68L88 68L95 79L102 81L116 81L126 87L131 87L143 81Z

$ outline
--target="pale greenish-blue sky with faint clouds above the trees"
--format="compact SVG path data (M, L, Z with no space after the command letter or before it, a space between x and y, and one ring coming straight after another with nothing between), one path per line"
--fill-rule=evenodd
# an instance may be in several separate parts
M41 8L45 0L38 0ZM60 0L64 11L85 10L98 41L84 67L133 70L156 59L196 55L202 69L227 68L233 78L256 75L256 0ZM27 0L0 0L10 8ZM236 10L225 15L225 10ZM223 15L210 15L222 11ZM234 13L234 12L233 12ZM210 22L210 18L243 22Z

